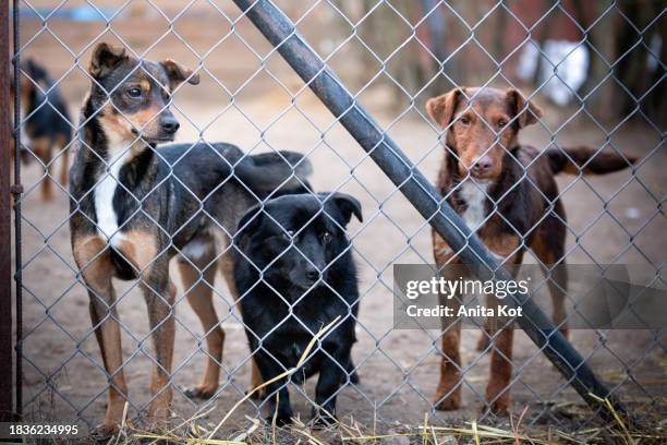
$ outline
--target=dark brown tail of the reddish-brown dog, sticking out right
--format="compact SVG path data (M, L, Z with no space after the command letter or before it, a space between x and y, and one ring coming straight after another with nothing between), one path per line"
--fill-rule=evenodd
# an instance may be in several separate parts
M554 175L605 175L622 170L636 163L636 157L614 152L599 152L586 146L549 147L545 152Z

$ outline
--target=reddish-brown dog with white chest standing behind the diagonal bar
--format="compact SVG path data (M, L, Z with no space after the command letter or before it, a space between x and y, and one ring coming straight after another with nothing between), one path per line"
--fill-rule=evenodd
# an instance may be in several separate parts
M438 191L505 264L520 264L527 246L545 266L565 265L566 215L556 173L607 173L635 161L587 147L550 147L539 153L520 145L519 131L537 122L542 111L513 88L457 88L429 99L426 111L446 130ZM461 263L435 232L433 246L438 268ZM567 335L567 274L558 267L550 278L554 323ZM460 323L456 323L442 334L437 409L461 405L460 333ZM487 326L482 336L480 349L492 339L494 344L484 408L504 414L510 400L513 328L498 332Z

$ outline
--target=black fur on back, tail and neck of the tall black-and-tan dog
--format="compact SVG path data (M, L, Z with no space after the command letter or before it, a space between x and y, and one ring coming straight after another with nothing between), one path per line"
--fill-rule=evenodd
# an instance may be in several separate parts
M95 127L95 121L92 119L89 125ZM96 137L104 139L104 134ZM120 170L120 187L113 195L119 227L156 227L154 221L157 221L159 238L166 238L160 249L169 245L169 239L173 246L182 249L211 225L225 227L232 234L232 228L220 216L226 206L226 190L233 189L238 204L243 197L247 206L269 194L310 189L301 175L308 175L312 168L302 155L293 152L274 155L268 161L266 154L245 155L239 147L226 143L183 143L144 149ZM85 157L87 161L83 160ZM288 180L293 171L290 163L300 165L294 170L298 178ZM97 221L92 191L102 170L102 161L86 154L82 147L71 170L70 191L74 212L72 225L87 226L87 232L94 231L93 221ZM83 216L80 213L88 216L80 217ZM119 278L136 278L137 270L121 255L114 254L113 260Z

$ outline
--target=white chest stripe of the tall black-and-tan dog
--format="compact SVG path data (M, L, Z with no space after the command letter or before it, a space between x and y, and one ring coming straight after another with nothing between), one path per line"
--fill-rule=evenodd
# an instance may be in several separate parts
M121 241L122 234L118 228L118 215L113 209L113 195L119 184L120 169L130 156L129 145L126 141L109 141L107 168L102 172L101 181L95 187L97 232L114 246Z

